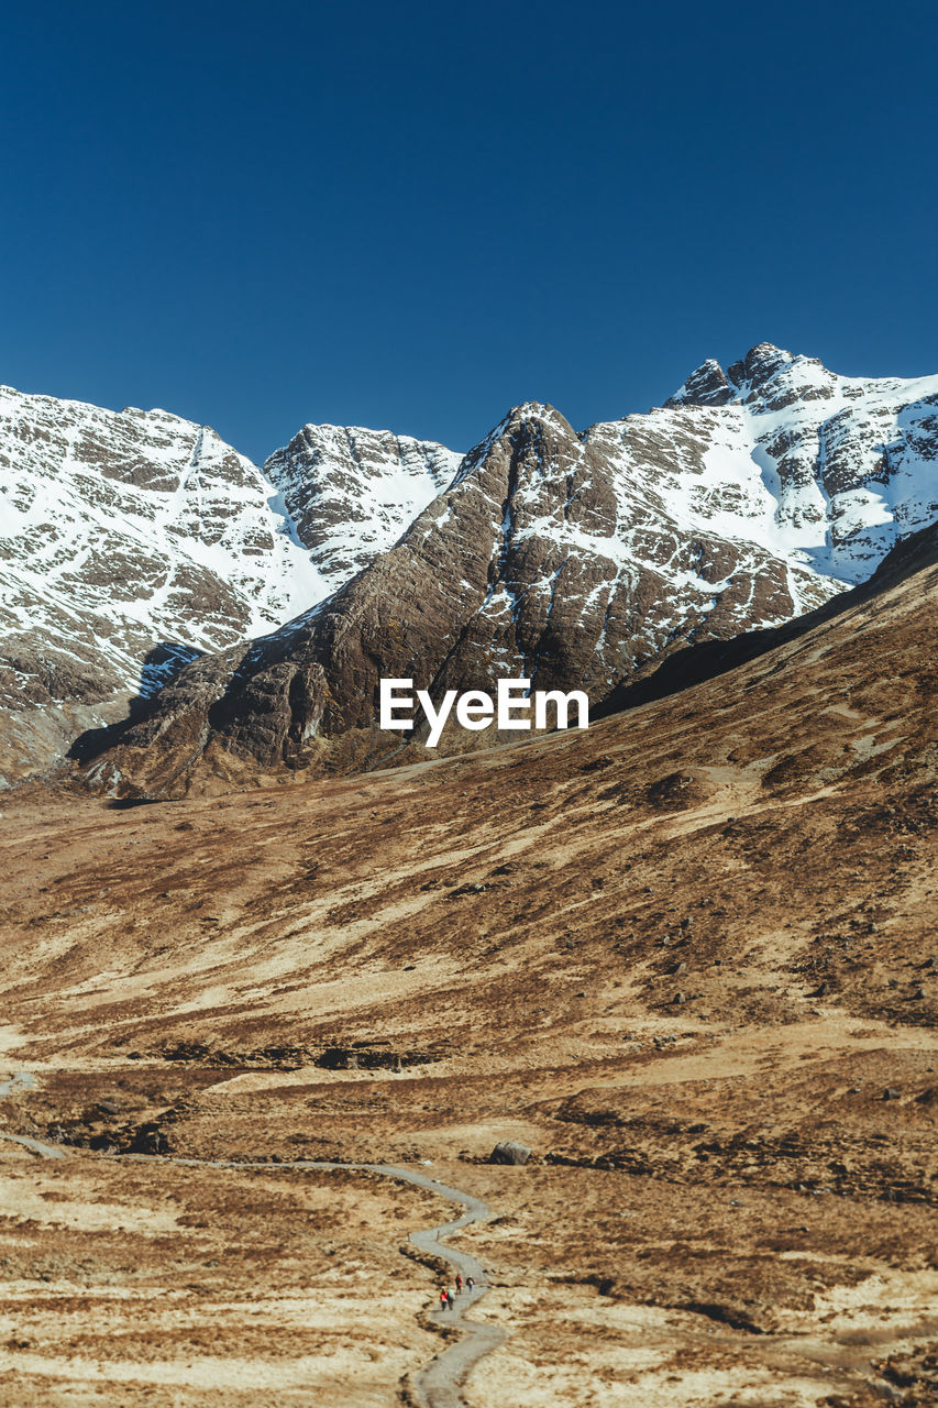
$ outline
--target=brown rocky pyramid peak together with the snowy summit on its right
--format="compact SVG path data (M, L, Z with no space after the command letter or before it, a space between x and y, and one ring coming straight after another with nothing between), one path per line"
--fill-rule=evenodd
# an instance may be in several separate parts
M382 676L434 698L525 676L601 703L682 645L820 605L934 521L937 407L938 377L835 377L765 344L583 434L517 407L390 551L280 631L186 666L96 776L173 794L196 774L400 758L400 735L375 731Z

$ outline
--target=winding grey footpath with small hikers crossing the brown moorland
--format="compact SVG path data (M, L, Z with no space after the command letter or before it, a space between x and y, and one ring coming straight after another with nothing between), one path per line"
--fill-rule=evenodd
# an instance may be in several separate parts
M10 1094L11 1090L28 1090L31 1086L32 1076L28 1071L18 1071L10 1080L0 1084L0 1097ZM23 1145L41 1159L66 1157L61 1146L46 1145L39 1139L30 1139L25 1135L8 1135L0 1131L0 1139ZM254 1171L262 1170L263 1173L276 1173L280 1169L315 1169L327 1173L337 1170L344 1173L376 1173L386 1178L394 1178L397 1183L410 1183L417 1188L435 1193L437 1197L445 1198L446 1202L461 1207L462 1214L454 1218L452 1222L411 1232L411 1245L420 1252L446 1262L452 1267L454 1276L458 1271L463 1283L470 1276L475 1286L472 1294L463 1291L462 1295L456 1297L452 1311L432 1309L430 1312L431 1321L441 1328L458 1328L461 1338L442 1353L435 1354L430 1364L417 1376L415 1390L421 1408L465 1408L462 1394L459 1393L461 1384L465 1383L466 1376L480 1359L484 1359L486 1354L490 1354L507 1339L507 1331L501 1329L500 1325L486 1325L466 1319L466 1311L476 1301L482 1300L489 1290L486 1269L475 1256L470 1256L468 1252L458 1252L441 1240L442 1238L452 1236L454 1232L462 1231L462 1228L472 1226L473 1222L486 1222L492 1217L489 1204L483 1202L482 1198L473 1197L470 1193L465 1193L461 1188L451 1188L425 1173L399 1169L390 1163L332 1163L310 1159L294 1159L284 1163L248 1163L230 1159L176 1159L170 1155L100 1155L100 1157L151 1164L176 1163L193 1169L249 1169Z

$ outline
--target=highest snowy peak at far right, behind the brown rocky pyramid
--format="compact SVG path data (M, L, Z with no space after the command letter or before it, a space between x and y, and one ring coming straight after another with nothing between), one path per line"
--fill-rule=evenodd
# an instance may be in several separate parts
M675 420L684 408L690 420ZM730 510L730 531L842 582L866 580L938 517L938 376L837 376L763 342L727 372L704 362L665 410L620 425L638 473L648 435L675 445L686 428L706 442L662 480L684 521L718 531Z

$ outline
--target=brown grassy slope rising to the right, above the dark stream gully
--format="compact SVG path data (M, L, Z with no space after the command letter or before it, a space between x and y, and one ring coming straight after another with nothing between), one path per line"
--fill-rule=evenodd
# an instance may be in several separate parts
M37 1053L158 1032L515 1060L546 1032L603 1050L604 1018L677 991L670 1017L739 1022L825 984L931 1025L937 577L587 734L127 811L14 796L7 1019Z

